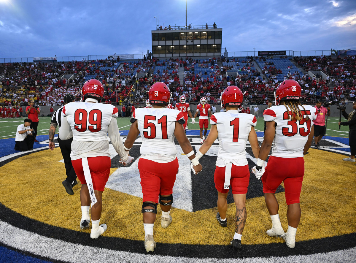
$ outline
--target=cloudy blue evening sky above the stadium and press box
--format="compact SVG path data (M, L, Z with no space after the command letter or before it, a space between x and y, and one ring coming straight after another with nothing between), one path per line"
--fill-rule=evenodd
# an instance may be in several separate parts
M157 19L184 26L185 0L0 0L0 58L146 53ZM229 52L356 49L355 0L188 0L214 22Z

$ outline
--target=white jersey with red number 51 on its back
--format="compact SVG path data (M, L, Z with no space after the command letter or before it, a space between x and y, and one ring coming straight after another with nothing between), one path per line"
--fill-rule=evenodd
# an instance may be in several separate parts
M137 120L142 138L141 158L159 163L176 159L174 129L176 121L184 120L182 112L167 108L138 108L132 118Z

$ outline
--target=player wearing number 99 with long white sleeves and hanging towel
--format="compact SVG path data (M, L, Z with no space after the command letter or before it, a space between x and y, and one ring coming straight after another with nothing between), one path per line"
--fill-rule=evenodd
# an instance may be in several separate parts
M80 228L89 228L89 206L91 205L91 238L104 233L106 224L99 225L104 187L109 179L111 160L109 134L112 146L126 165L133 158L128 156L122 143L116 118L117 108L111 104L100 103L104 87L97 79L90 79L82 88L84 102L68 103L62 109L63 121L59 138L67 140L73 136L70 158L78 179L82 183L80 203L82 219Z

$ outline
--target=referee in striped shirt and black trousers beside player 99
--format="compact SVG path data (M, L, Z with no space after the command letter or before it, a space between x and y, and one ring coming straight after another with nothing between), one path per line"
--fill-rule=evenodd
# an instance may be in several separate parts
M72 94L66 94L63 97L64 105L73 102L74 96ZM48 148L53 151L54 149L54 134L56 133L57 125L59 125L58 129L61 128L61 123L63 120L62 116L63 106L57 109L52 116L51 127L49 128L49 143ZM67 179L62 182L64 188L66 189L67 194L74 195L73 186L78 184L77 175L75 174L72 160L70 160L70 152L72 151L71 144L73 141L73 137L68 140L61 140L58 137L59 148L61 148L62 156L64 159L64 165L66 166L66 174Z

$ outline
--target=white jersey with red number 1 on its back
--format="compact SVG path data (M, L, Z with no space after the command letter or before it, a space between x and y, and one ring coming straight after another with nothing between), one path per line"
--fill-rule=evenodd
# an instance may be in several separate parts
M210 124L216 124L218 128L218 159L243 159L243 165L248 164L246 143L251 127L257 124L256 117L252 114L239 113L238 110L228 110L211 115Z

